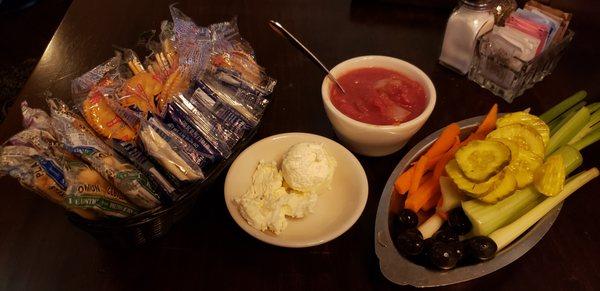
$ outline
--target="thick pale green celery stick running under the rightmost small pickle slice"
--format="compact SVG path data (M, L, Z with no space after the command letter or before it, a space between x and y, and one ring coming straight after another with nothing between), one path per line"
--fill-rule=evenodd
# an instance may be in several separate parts
M561 147L555 154L562 156L567 175L583 163L581 153L569 145ZM519 218L540 203L543 198L544 196L530 185L515 191L496 204L487 204L473 199L463 201L462 208L473 225L473 234L487 235Z

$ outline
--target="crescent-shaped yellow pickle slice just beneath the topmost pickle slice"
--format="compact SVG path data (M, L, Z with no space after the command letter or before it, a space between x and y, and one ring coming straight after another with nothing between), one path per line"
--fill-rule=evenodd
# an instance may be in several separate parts
M519 148L531 151L540 157L543 157L546 153L542 136L528 125L511 124L503 126L490 132L487 138L504 138L514 141Z

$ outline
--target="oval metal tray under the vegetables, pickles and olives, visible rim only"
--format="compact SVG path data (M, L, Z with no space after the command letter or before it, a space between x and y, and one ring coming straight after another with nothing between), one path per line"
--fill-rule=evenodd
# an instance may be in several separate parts
M463 136L477 128L484 116L469 118L458 122ZM390 281L399 285L414 287L437 287L469 281L490 274L523 256L548 232L558 214L562 203L551 210L521 237L496 254L492 260L475 265L457 267L449 271L428 269L417 265L404 258L394 246L390 221L399 208L399 199L394 192L396 177L404 172L412 162L416 161L438 138L443 129L440 129L417 145L415 145L396 166L390 175L377 209L375 221L375 253L379 258L379 267L383 275Z

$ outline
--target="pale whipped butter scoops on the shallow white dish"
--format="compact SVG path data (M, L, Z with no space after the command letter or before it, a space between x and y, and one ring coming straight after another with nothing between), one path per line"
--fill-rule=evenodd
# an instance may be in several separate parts
M282 170L274 161L260 161L252 185L234 199L240 214L254 228L275 234L288 225L288 217L312 213L318 190L329 186L336 161L316 143L292 146L284 155Z

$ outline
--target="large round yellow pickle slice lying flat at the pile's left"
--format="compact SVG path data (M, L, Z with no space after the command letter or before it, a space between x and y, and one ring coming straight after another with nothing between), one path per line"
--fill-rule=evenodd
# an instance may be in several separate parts
M456 162L465 176L485 181L500 172L510 160L510 149L493 140L474 140L456 152Z

